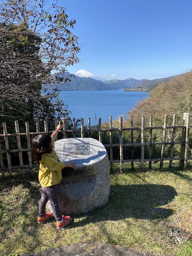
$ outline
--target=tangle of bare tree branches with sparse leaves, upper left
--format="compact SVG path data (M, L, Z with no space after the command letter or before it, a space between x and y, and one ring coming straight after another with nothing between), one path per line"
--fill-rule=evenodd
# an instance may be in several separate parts
M79 62L78 36L64 7L45 0L0 3L0 115L30 112L58 97L70 79L67 67ZM43 93L43 94L42 94Z

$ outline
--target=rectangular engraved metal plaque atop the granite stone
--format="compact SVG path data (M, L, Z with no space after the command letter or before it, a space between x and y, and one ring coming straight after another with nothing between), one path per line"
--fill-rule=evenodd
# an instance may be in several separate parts
M64 155L89 154L89 143L64 143Z

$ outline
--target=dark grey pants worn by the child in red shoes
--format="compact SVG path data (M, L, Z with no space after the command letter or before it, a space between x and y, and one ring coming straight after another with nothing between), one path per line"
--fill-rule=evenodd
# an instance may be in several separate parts
M45 217L46 203L49 200L56 221L61 221L63 219L61 210L59 208L57 185L58 184L49 187L42 187L42 195L39 202L39 217Z

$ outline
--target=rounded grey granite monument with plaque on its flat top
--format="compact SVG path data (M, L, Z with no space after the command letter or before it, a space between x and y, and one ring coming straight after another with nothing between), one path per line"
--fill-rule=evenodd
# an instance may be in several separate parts
M60 139L55 142L59 159L76 162L75 169L62 169L58 185L61 212L87 213L108 203L110 192L108 154L101 142L92 138ZM51 211L48 202L47 208Z

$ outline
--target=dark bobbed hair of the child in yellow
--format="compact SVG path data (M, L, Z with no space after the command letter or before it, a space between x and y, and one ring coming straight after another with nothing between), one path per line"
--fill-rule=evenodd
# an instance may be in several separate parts
M52 151L51 135L39 134L31 140L32 155L35 163L41 160L43 154L49 154Z

